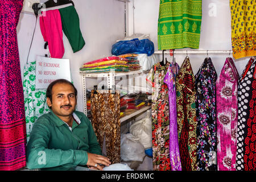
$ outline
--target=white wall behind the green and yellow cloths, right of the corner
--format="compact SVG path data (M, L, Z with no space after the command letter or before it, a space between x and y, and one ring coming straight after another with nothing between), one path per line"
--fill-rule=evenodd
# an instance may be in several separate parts
M155 51L158 50L158 14L159 0L131 0L129 3L129 31L128 35L150 34L154 42ZM133 9L134 3L134 9ZM134 11L134 18L133 18ZM231 44L231 16L229 0L203 0L202 1L202 23L199 49L204 50L230 50ZM134 19L134 22L133 22ZM134 27L133 27L134 24ZM186 50L189 48L179 49ZM177 49L178 50L178 49ZM181 65L186 55L175 55L176 62ZM193 73L196 74L207 55L188 55L191 61ZM229 55L209 55L212 58L217 74L220 75L226 57ZM230 57L233 57L230 55ZM162 54L160 55L162 60ZM167 56L171 60L170 56ZM247 61L245 59L234 60L238 73L242 74Z

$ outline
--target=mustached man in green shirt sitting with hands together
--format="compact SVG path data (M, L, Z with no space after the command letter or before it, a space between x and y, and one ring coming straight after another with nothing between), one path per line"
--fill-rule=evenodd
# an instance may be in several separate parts
M89 119L75 111L75 86L64 79L55 80L49 84L46 97L50 112L39 117L32 128L27 168L74 170L87 165L102 170L100 164L109 166Z

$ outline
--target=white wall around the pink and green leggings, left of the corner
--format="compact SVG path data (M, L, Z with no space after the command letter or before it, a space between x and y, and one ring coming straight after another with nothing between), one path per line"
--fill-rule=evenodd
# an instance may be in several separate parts
M115 40L122 39L124 36L125 4L116 0L73 0L73 2L79 14L80 29L85 39L85 47L79 52L73 53L67 37L63 34L65 48L63 59L70 59L72 79L79 91L77 109L82 111L82 78L79 68L87 61L111 56L111 48ZM35 20L35 15L20 14L17 31L22 78ZM36 55L44 56L45 53L38 18L28 62L35 61Z

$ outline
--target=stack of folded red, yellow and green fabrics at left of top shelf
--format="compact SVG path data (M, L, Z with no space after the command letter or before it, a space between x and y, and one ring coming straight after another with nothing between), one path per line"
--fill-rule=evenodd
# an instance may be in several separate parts
M129 64L124 57L110 56L102 59L89 61L80 68L80 71L86 73L101 73L101 72L128 72Z

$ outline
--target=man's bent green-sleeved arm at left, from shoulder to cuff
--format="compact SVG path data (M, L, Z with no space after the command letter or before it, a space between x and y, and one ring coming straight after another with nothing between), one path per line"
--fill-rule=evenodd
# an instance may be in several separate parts
M85 165L88 162L88 154L83 150L49 149L49 129L43 121L38 120L31 132L27 144L27 167L50 168L63 166L69 168L77 165Z

